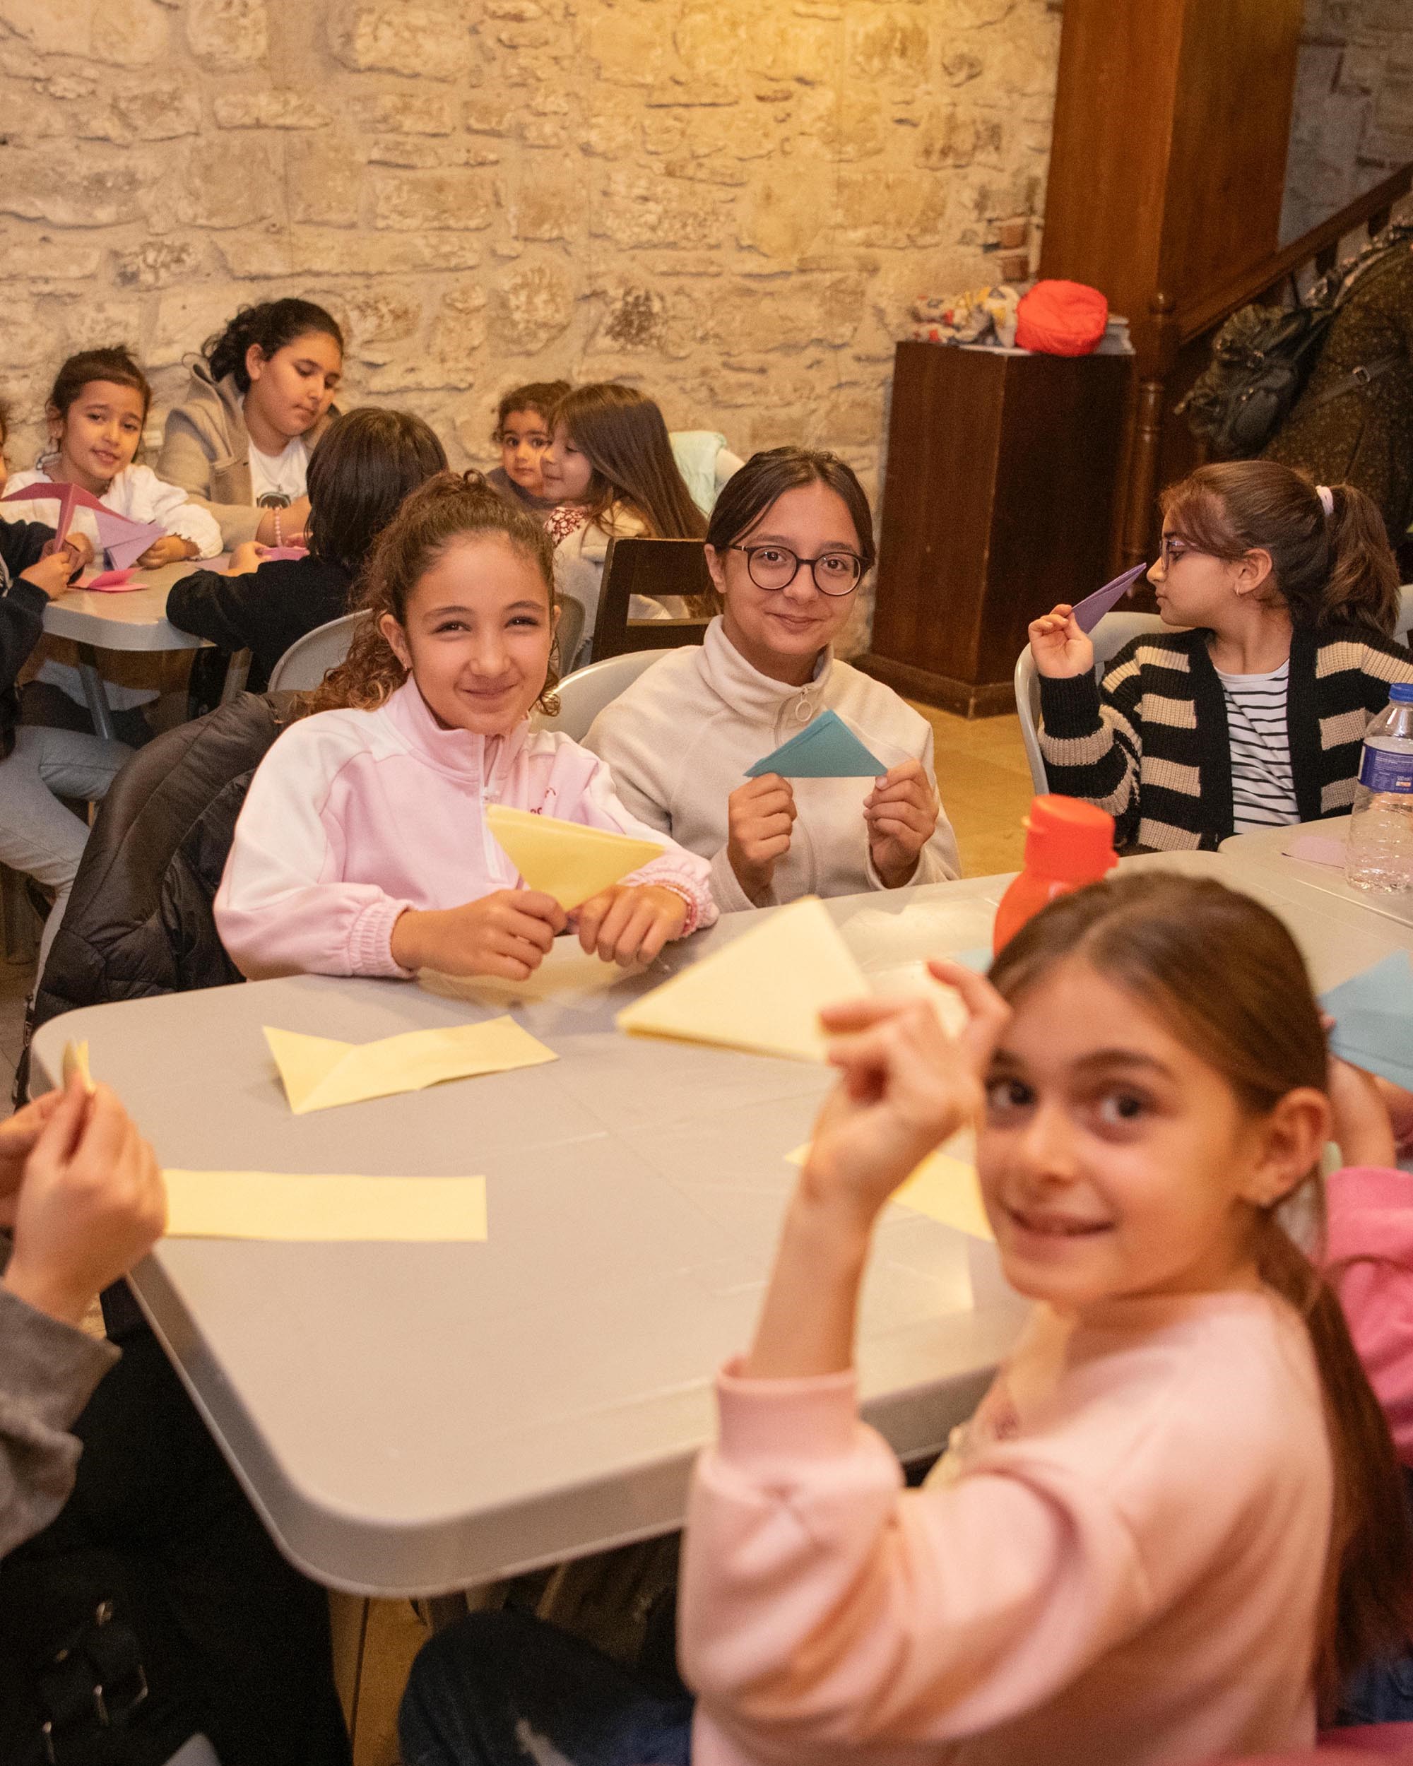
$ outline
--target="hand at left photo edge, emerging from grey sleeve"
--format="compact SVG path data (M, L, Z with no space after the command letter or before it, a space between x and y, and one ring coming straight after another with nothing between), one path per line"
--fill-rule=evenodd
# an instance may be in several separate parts
M108 1086L88 1097L78 1074L69 1081L0 1203L0 1220L14 1229L4 1286L71 1324L162 1236L162 1173Z

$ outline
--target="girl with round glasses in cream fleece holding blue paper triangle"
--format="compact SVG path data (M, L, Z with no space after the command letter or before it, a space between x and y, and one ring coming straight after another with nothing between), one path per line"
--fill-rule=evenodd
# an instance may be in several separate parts
M634 816L712 862L726 909L959 872L931 724L834 655L873 562L869 500L844 461L754 454L706 530L722 600L706 641L666 652L585 738ZM876 779L745 777L823 712L878 758Z

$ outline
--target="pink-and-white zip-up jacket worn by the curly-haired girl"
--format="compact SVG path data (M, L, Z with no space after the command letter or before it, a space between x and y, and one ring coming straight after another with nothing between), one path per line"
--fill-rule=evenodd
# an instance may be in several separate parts
M413 680L376 712L318 712L260 763L215 895L215 929L242 975L406 975L392 927L406 908L459 908L519 874L484 805L539 811L666 848L625 881L687 897L710 925L705 858L636 821L608 766L558 731L442 729Z

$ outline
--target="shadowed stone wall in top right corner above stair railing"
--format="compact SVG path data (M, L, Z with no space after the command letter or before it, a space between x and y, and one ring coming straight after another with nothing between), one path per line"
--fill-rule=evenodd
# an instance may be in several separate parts
M1413 0L1305 0L1281 238L1413 159Z

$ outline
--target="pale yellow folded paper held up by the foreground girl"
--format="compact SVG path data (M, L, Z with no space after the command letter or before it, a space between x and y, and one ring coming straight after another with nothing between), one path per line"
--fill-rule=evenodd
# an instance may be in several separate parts
M634 1037L823 1061L820 1012L867 992L828 909L805 895L623 1007L616 1024Z

